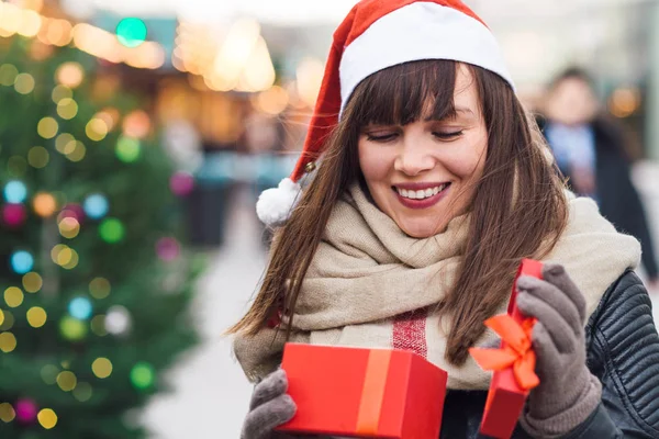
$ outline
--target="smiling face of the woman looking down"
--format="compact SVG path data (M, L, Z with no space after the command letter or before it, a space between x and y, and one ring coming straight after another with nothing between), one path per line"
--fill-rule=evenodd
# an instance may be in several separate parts
M473 78L462 65L454 105L450 119L369 125L359 135L359 166L371 196L415 238L436 235L463 214L483 173L488 130Z

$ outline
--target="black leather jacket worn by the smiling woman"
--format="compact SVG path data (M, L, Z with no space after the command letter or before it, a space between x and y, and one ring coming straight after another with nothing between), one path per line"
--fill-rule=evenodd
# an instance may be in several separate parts
M566 439L659 439L659 336L650 297L628 271L612 284L587 326L588 367L602 382L602 404ZM485 391L449 391L442 439L478 432ZM513 439L528 438L517 427Z

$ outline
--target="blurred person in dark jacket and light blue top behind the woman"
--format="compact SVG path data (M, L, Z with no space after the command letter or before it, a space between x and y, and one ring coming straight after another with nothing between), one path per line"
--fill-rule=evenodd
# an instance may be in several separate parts
M549 85L538 124L557 165L579 195L594 199L619 230L640 240L651 291L659 270L646 212L630 177L622 130L600 110L587 71L570 67Z

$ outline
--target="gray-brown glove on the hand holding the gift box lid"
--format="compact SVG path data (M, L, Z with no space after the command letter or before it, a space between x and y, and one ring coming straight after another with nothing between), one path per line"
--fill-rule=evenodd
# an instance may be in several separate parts
M534 438L566 435L597 408L602 384L585 365L585 299L562 266L546 264L544 280L517 281L517 306L538 319L533 330L540 385L520 418Z

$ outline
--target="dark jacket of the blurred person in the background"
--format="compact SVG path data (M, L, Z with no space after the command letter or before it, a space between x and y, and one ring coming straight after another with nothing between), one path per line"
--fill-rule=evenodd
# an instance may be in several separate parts
M543 132L548 121L538 117ZM597 117L590 127L595 146L595 187L600 212L615 227L636 237L643 247L643 266L650 278L659 275L646 212L630 177L622 131L610 120ZM551 146L551 145L549 145ZM568 179L570 169L560 170ZM569 183L569 180L568 180Z

